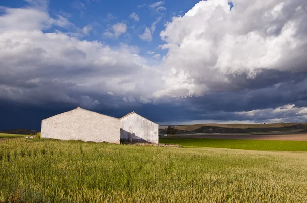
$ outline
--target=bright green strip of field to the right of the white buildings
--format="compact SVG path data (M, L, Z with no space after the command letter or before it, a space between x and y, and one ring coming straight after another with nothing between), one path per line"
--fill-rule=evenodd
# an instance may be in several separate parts
M162 138L160 143L180 144L184 147L214 147L261 151L307 151L307 141L231 140L205 138Z

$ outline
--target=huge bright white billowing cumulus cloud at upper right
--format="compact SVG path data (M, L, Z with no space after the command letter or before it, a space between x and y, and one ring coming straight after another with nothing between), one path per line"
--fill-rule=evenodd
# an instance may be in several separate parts
M305 71L307 2L200 1L160 33L165 87L156 96L201 96L263 70Z

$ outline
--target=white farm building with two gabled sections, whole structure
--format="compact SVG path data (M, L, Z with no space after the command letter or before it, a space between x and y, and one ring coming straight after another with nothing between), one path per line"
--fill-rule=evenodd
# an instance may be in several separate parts
M78 107L42 120L41 138L158 144L158 127L135 112L118 119Z

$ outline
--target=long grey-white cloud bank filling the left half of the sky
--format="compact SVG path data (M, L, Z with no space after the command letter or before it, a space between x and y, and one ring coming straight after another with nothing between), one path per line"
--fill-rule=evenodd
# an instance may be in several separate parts
M0 15L0 100L82 104L94 108L107 95L128 101L151 98L161 84L157 68L137 46L111 47L63 32L43 32L68 23L35 8L2 8ZM80 29L82 30L82 29ZM89 28L83 29L89 31ZM112 35L126 25L112 26ZM93 96L96 95L96 96ZM107 104L105 104L107 105Z

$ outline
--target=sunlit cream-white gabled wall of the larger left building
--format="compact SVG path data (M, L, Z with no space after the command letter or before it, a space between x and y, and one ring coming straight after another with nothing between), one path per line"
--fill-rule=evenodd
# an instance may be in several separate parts
M120 120L78 107L42 120L41 138L120 143Z

